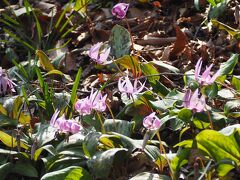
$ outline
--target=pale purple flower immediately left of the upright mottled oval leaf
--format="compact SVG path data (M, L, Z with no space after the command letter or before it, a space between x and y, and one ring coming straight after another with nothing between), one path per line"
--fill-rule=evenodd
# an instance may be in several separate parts
M102 42L93 45L88 52L88 56L98 64L105 64L111 48L105 48L100 51L101 47Z

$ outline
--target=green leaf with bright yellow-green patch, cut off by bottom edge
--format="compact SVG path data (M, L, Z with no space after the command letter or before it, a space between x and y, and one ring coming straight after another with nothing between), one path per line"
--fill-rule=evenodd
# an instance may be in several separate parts
M58 171L53 171L50 173L45 174L41 180L74 180L74 179L81 179L81 180L91 180L91 176L89 173L83 169L82 167L78 166L70 166Z

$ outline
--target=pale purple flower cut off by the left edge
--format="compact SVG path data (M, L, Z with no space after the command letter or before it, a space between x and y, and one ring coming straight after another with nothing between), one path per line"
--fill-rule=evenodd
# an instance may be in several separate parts
M16 92L13 85L16 86L16 84L7 77L7 74L3 72L2 67L0 67L0 94L6 94L8 90Z

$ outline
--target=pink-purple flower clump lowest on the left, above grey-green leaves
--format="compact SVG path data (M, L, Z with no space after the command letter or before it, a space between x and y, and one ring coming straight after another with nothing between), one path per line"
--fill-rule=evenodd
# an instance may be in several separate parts
M73 119L66 119L64 114L57 118L59 112L59 110L56 110L50 120L50 125L52 127L55 127L61 132L72 134L78 133L82 129L82 127Z

